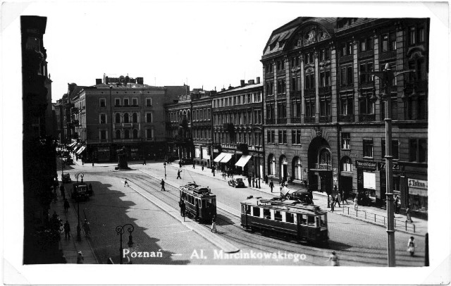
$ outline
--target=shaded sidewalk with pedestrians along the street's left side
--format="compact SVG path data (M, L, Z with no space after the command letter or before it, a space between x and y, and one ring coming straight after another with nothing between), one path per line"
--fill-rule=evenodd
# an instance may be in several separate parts
M61 171L58 172L58 178L61 178ZM62 184L62 182L60 182ZM83 257L84 257L84 264L97 264L99 261L97 260L97 257L94 254L94 250L91 247L91 244L89 240L87 240L87 237L85 235L85 232L82 228L82 215L80 215L80 236L81 241L77 241L77 204L75 201L70 199L70 184L66 184L66 199L68 199L70 208L68 209L67 213L64 213L64 200L61 196L61 192L59 191L58 187L58 198L56 202L52 201L50 204L50 216L56 211L56 214L63 220L63 223L66 223L66 220L68 220L70 225L70 239L66 240L64 234L61 235L61 241L59 243L59 248L61 251L63 251L63 256L66 258L66 263L77 263L77 256L78 251L82 251Z

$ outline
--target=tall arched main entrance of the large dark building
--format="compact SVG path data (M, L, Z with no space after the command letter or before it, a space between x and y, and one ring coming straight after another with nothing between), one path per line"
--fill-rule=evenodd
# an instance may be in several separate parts
M323 137L311 140L308 151L309 186L311 191L332 192L332 156L330 146Z

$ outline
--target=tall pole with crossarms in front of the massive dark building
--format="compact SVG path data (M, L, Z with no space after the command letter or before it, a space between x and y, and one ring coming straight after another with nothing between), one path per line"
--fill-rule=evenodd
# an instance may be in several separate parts
M388 251L388 267L395 267L395 210L393 206L393 156L392 156L392 101L390 92L392 89L392 81L398 75L410 73L414 70L403 70L395 73L390 70L388 63L381 72L362 72L362 75L375 75L381 79L383 94L381 100L385 100L385 185L387 197L387 251ZM370 100L374 103L378 100L376 94L373 94Z

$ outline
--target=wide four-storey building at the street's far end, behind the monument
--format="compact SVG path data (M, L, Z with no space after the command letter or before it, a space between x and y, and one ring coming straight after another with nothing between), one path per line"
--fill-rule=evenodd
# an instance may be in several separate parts
M70 98L77 154L86 161L116 161L117 150L125 147L128 160L163 158L163 105L184 92L184 86L153 87L128 76L104 75L83 87Z

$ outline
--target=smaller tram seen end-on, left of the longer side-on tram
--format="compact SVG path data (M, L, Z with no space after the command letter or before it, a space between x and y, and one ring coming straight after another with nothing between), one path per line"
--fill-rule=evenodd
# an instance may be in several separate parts
M201 187L195 182L180 186L180 201L185 202L185 214L199 223L211 223L216 216L216 195L209 187Z

